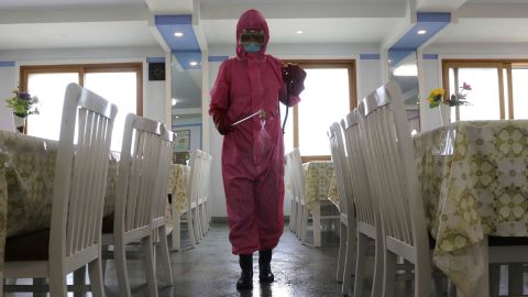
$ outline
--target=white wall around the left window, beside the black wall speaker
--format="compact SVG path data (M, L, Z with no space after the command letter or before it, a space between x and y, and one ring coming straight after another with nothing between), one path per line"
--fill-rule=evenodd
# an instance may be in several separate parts
M15 62L15 67L0 68L0 95L9 94L19 81L21 65L57 65L92 63L143 63L143 117L166 122L165 81L148 81L146 57L165 56L161 47L108 47L67 50L19 50L0 52L0 61Z

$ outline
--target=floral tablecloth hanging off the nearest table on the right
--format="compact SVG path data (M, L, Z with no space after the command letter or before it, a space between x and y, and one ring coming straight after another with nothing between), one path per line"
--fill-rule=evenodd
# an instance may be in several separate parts
M528 121L458 122L414 142L433 261L472 296L484 235L528 237Z

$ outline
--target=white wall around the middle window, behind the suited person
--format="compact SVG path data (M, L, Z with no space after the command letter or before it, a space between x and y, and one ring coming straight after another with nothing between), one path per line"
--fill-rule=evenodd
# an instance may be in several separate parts
M211 46L209 55L212 56L234 56L234 45ZM270 45L267 50L272 54L283 59L355 59L356 61L356 85L358 98L363 98L369 92L381 85L381 61L380 59L359 59L360 54L380 53L377 44L304 44L304 45ZM218 75L220 63L209 63L209 89L212 88ZM208 102L210 101L207 100ZM211 213L213 217L227 217L226 194L223 190L221 174L221 152L223 138L215 129L212 120L209 117L210 135L209 150L213 156L211 166ZM288 193L284 200L285 215L289 216L290 198Z

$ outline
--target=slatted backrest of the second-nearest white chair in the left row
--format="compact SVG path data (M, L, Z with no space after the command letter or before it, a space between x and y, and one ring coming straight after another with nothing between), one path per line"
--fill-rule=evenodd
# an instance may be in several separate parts
M160 122L132 113L127 116L119 162L114 234L124 234L151 224L162 130Z

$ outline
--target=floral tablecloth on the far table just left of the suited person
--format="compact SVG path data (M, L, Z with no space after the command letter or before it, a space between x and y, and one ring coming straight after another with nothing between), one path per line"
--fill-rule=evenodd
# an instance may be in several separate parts
M178 213L187 211L187 184L189 179L190 167L180 164L173 164L168 177L168 193L172 194L173 204L176 204Z

